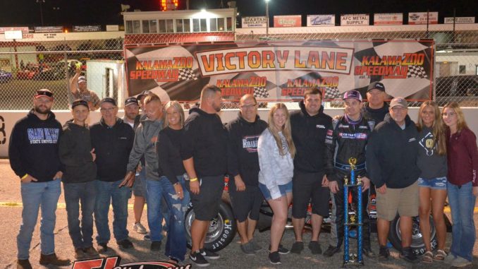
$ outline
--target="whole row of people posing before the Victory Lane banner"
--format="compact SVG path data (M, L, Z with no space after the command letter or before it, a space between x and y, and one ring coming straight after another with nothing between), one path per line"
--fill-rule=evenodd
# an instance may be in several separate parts
M78 77L79 73L77 74ZM80 85L83 81L76 81ZM422 261L447 261L455 266L472 261L475 239L473 209L478 195L478 150L474 133L467 128L456 103L440 112L428 101L419 109L417 124L407 115L407 102L396 97L388 105L385 86L371 83L367 104L362 95L349 90L343 95L345 114L324 114L322 92L305 90L300 110L289 114L277 103L266 121L257 114L253 95L240 98L237 119L222 124L221 90L206 85L199 107L189 111L176 101L164 106L157 95L142 92L125 100L125 117L111 97L99 100L99 122L88 126L92 102L78 99L71 104L73 119L61 127L51 106L51 91L38 90L34 108L13 128L9 156L13 171L21 179L22 225L17 237L18 268L31 268L30 241L42 208L41 264L66 265L68 259L54 252L56 203L63 181L68 230L75 258L98 256L109 250L108 213L114 211L113 232L123 249L133 247L128 239L128 198L135 195L133 229L146 233L140 224L147 203L150 249L159 251L167 232L165 254L171 263L184 261L186 238L184 215L191 202L192 249L189 258L198 266L209 265L219 253L204 248L209 222L219 213L228 174L231 205L237 221L240 249L254 255L262 249L254 239L259 208L265 200L274 217L271 222L269 261L281 263L280 254L300 254L302 231L312 206L313 254L330 257L341 251L344 231L344 178L357 160L355 174L363 184L363 253L376 257L370 241L368 193L376 191L377 230L381 261L388 260L386 247L390 222L400 215L400 257L411 263L419 258L410 248L412 217L419 215L427 252ZM140 114L140 109L142 114ZM453 218L453 241L446 253L443 205L448 194ZM357 191L352 191L357 204ZM329 217L331 236L322 253L321 223ZM292 205L295 241L290 251L281 244ZM81 207L80 207L81 204ZM431 252L430 212L436 224L438 248ZM81 218L81 220L80 220ZM93 247L93 222L97 227L97 249Z

